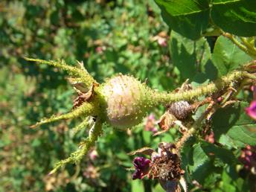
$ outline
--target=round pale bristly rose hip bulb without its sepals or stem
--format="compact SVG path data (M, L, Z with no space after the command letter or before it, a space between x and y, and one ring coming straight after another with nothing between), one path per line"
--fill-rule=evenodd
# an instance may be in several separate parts
M119 74L101 86L106 105L106 121L113 127L131 128L147 115L152 91L134 77Z

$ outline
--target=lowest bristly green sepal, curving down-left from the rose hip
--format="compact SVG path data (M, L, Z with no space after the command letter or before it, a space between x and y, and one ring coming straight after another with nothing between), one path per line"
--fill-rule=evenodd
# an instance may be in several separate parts
M68 159L63 159L57 162L54 169L51 170L49 174L51 175L55 173L58 169L60 169L60 167L65 166L65 164L68 164L68 163L76 164L77 162L79 162L83 158L83 156L86 156L89 150L95 145L95 142L97 141L97 137L100 135L101 131L102 131L102 122L100 121L100 119L96 119L95 124L92 125L89 131L89 136L86 138L85 141L83 141L83 144L80 145L79 149L74 153L71 153Z

